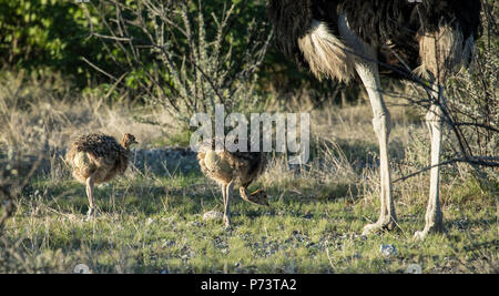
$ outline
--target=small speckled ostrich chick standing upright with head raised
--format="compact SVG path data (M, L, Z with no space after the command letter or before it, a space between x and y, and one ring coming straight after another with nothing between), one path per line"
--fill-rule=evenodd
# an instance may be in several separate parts
M93 185L123 174L129 166L130 146L136 143L135 136L129 133L123 135L121 145L112 136L91 133L78 136L69 147L65 160L73 176L86 184L88 220L95 214Z

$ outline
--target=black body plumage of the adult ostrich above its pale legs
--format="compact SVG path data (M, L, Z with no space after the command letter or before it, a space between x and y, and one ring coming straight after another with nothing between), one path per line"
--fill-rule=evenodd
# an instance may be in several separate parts
M413 69L419 65L418 37L441 25L461 30L464 40L481 34L480 0L269 0L276 45L291 60L306 68L298 39L313 20L327 23L338 35L338 16L345 14L350 30L377 50L379 72L406 78L400 58ZM387 48L387 44L390 44Z

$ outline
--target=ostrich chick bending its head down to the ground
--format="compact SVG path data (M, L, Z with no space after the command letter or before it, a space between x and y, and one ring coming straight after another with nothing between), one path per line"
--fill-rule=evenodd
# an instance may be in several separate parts
M202 147L197 153L201 171L222 186L224 200L224 223L231 226L230 201L234 183L240 185L240 194L246 202L268 206L267 194L257 190L248 194L247 187L265 167L265 156L261 152L216 152L212 147Z

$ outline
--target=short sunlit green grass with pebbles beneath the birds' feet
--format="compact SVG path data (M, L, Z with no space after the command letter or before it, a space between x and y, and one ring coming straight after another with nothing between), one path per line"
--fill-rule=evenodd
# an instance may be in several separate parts
M82 185L40 181L21 201L7 237L22 237L33 256L60 254L58 272L80 263L93 273L404 273L417 263L424 273L497 273L498 233L491 197L462 184L454 191L473 196L444 203L448 235L411 239L424 227L424 204L397 202L399 229L361 237L377 217L377 201L273 196L268 208L235 198L233 229L203 213L222 210L220 193L200 175L174 178L122 178L96 190L101 216L84 222ZM327 191L327 190L323 190ZM452 192L444 201L454 200ZM459 197L458 197L459 198ZM421 201L424 202L424 201ZM397 254L385 257L381 244ZM44 271L35 267L33 272ZM12 272L12 271L11 271Z

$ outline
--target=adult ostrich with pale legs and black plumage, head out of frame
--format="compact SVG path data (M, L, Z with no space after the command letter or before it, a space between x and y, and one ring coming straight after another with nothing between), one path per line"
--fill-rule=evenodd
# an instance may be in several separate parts
M445 232L438 164L446 99L440 85L470 61L480 31L480 0L269 0L268 9L285 55L318 79L359 78L367 90L379 141L381 208L378 221L364 227L366 235L393 228L397 221L388 161L390 115L379 74L416 75L431 83L436 99L426 115L431 137L429 201L426 226L415 237Z

